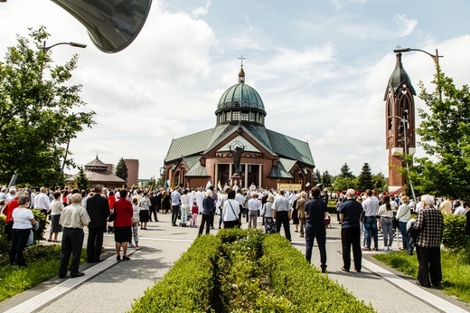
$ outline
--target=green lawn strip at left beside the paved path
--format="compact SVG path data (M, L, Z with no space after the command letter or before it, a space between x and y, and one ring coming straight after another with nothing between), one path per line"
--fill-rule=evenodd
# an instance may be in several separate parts
M86 260L87 251L81 251L81 262ZM10 265L8 255L0 255L0 301L32 289L59 274L61 260L60 245L37 244L24 251L25 267Z

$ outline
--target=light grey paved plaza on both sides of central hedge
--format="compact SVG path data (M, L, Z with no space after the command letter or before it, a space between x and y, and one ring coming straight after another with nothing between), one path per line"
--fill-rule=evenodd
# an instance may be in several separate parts
M114 235L106 234L106 252L103 255L106 261L83 264L80 270L85 272L85 276L81 278L60 280L56 277L6 299L0 303L0 312L127 312L135 299L154 286L155 281L162 280L197 236L198 229L173 227L170 218L171 214L159 214L160 222L148 223L147 231L139 230L142 249L129 249L130 261L116 261ZM219 216L216 216L215 225L218 221ZM243 223L242 227L247 225ZM216 232L211 230L211 233ZM305 242L298 232L294 232L293 225L291 232L292 244L305 252ZM397 241L393 248L398 249ZM333 222L332 228L327 230L326 250L328 277L353 292L358 299L371 303L378 312L470 312L469 305L441 290L423 289L415 284L414 279L385 267L371 257L373 253L388 253L385 251L363 253L361 273L341 271L343 261L340 225L337 223ZM318 250L314 247L312 261L315 266L320 266L319 259Z

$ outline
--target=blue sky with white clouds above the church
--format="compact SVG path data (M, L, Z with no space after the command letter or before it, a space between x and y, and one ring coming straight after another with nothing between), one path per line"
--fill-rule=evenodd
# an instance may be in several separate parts
M135 42L108 54L51 1L9 0L0 4L0 53L41 24L48 43L89 44L52 50L57 63L80 54L72 81L83 84L82 99L97 112L97 125L71 141L79 165L97 154L105 163L132 157L141 178L158 175L172 138L215 125L243 54L267 128L308 141L321 172L336 175L346 162L359 175L367 162L372 173L388 175L383 94L392 50L437 48L442 71L458 87L468 84L469 13L464 0L154 1ZM402 60L416 90L418 81L433 88L430 57L409 52Z

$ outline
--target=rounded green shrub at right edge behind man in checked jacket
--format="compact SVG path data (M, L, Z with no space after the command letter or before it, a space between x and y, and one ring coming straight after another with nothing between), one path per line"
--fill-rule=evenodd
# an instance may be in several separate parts
M465 234L465 216L448 214L444 216L442 243L449 251L470 250L470 237Z

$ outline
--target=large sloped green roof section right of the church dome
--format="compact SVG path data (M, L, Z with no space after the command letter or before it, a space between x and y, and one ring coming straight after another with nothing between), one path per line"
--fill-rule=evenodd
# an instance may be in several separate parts
M306 165L315 166L314 158L307 142L279 134L269 129L267 129L267 133L274 151L279 156L286 156Z

